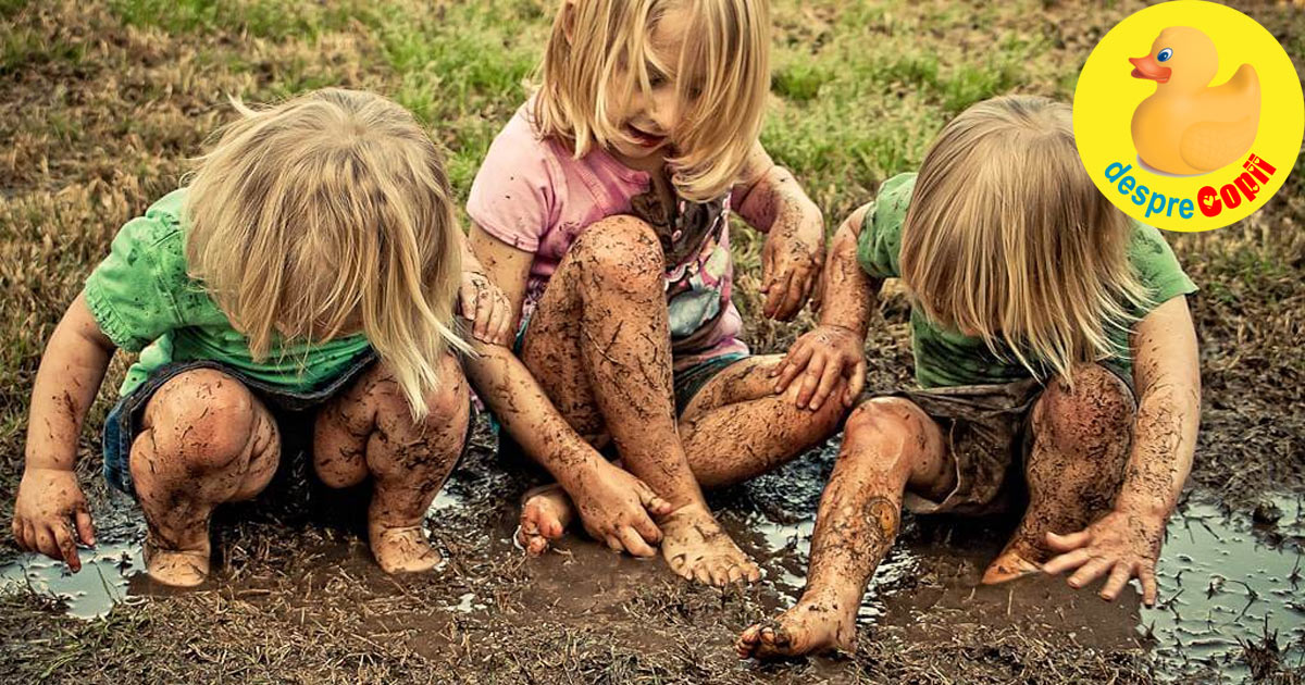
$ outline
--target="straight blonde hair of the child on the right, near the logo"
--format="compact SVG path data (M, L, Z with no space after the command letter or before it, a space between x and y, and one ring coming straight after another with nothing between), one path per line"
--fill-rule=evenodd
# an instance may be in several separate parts
M947 124L924 158L902 232L902 279L928 316L998 342L1071 382L1075 363L1121 352L1109 329L1147 294L1126 256L1130 222L1096 189L1070 108L1002 97Z

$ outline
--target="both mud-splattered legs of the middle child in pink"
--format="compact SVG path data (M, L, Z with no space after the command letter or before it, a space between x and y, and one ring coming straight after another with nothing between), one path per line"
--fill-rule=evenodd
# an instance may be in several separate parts
M672 505L692 505L693 517L662 522L672 569L694 577L694 565L710 566L713 582L732 569L753 575L711 521L693 476L720 484L756 475L833 431L840 411L817 415L774 397L763 367L778 359L754 359L709 381L677 425L664 264L662 241L643 222L616 217L590 227L544 292L522 360L578 433L595 446L612 440L634 475ZM729 462L719 463L722 455Z

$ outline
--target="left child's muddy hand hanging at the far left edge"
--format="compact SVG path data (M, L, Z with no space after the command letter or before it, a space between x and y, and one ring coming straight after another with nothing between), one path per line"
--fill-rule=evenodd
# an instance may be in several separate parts
M27 468L22 474L13 508L13 539L22 549L61 558L73 573L81 570L77 540L95 544L95 526L76 474L61 468Z

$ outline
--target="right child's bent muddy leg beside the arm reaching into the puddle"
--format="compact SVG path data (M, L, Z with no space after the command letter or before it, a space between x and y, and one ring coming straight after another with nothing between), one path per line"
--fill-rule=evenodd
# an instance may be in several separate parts
M1082 530L1111 509L1135 411L1124 381L1096 364L1075 372L1073 389L1061 378L1047 386L1032 411L1034 449L1024 467L1028 510L984 571L984 583L1037 571L1051 556L1048 531Z

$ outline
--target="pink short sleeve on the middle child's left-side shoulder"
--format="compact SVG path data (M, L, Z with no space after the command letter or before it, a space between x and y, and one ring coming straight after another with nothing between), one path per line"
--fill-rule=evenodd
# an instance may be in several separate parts
M526 252L557 221L548 145L518 112L489 145L467 196L467 214L487 234Z

